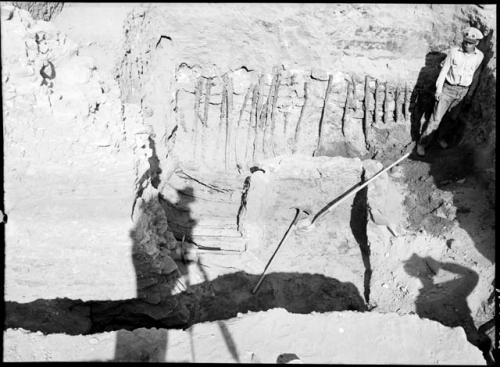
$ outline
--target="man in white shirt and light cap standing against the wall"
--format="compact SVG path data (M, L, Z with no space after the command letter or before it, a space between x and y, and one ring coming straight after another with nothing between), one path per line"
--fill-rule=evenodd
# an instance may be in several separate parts
M477 85L476 70L481 65L484 55L477 49L481 31L469 27L464 31L461 47L452 47L444 60L443 68L436 81L436 103L427 128L422 131L417 142L417 154L425 155L425 148L430 143L431 134L439 128L446 112L457 106L462 100L467 101ZM446 141L438 137L439 145L447 148Z

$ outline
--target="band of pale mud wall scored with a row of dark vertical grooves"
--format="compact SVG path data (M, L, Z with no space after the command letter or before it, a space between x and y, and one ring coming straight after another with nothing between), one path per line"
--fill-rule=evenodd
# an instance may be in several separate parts
M176 79L177 140L193 148L178 155L209 169L248 169L290 154L366 157L380 145L376 130L409 137L405 85L282 66L206 78L183 64Z

